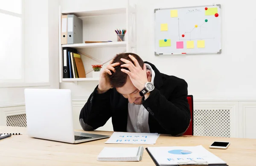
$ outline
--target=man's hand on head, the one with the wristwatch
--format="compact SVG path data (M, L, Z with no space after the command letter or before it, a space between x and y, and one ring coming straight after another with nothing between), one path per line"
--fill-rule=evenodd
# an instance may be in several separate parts
M134 86L141 91L145 87L145 83L148 82L146 65L144 64L142 69L135 57L132 55L129 55L129 57L135 65L130 60L121 58L120 60L125 63L122 64L121 67L126 67L130 70L121 69L121 71L128 74Z

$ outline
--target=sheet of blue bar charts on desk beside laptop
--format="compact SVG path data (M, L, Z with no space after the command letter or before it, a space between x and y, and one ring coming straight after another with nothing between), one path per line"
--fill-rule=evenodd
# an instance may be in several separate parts
M158 133L113 132L105 143L155 144Z

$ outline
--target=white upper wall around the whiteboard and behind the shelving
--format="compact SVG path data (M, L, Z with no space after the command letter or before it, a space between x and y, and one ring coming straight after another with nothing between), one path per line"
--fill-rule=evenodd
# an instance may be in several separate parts
M252 15L254 2L243 3L210 0L133 0L137 5L137 54L143 60L154 63L160 72L185 79L189 85L189 94L195 99L256 99L256 61L253 52L256 34L254 31L256 16ZM61 0L63 10L107 9L125 5L125 0ZM117 3L119 2L119 3ZM222 54L203 54L187 56L154 55L154 9L182 6L201 6L220 3L222 9ZM238 10L239 9L239 10ZM71 84L62 83L62 87L71 88L74 93L88 96L92 85L82 83L90 89L80 91Z

